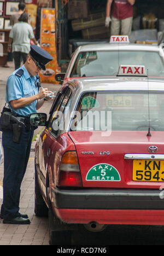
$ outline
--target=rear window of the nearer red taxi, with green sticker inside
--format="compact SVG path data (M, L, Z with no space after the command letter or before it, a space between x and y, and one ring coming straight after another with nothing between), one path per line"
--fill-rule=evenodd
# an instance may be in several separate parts
M149 98L149 101L148 101ZM148 104L149 102L149 104ZM79 98L71 131L164 131L161 92L85 92Z

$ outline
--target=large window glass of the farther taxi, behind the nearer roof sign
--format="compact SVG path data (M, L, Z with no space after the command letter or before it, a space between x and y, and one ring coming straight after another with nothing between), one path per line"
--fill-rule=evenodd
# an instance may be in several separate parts
M116 75L120 65L144 65L149 76L164 76L164 63L155 51L87 51L79 53L70 77Z

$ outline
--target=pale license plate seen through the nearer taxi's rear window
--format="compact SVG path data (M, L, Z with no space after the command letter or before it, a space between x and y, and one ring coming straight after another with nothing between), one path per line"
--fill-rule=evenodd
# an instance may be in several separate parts
M121 106L131 106L132 98L131 96L114 96L108 95L106 98L108 107L121 107Z

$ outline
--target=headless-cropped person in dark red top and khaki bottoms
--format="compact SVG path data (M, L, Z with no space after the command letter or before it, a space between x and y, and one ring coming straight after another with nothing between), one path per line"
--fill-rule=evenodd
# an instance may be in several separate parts
M130 36L132 30L134 3L135 0L107 0L105 26L109 27L111 21L111 36ZM110 19L111 9L112 18Z

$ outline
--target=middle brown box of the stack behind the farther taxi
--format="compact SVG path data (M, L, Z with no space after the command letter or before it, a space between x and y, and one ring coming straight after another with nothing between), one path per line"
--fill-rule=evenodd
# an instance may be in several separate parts
M103 26L106 21L106 13L89 14L86 19L72 20L73 31L84 30L85 28Z

